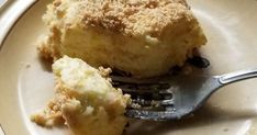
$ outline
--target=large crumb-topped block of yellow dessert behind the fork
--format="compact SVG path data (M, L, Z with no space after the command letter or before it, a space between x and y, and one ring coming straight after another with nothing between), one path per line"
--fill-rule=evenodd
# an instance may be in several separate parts
M186 0L55 0L43 20L44 57L68 55L134 77L182 66L206 43Z

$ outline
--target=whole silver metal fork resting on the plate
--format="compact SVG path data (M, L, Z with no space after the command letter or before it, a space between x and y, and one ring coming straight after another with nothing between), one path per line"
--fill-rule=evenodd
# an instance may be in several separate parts
M125 115L132 119L168 121L189 115L217 89L257 77L257 69L245 69L221 76L164 76L133 79L112 76L113 86L132 95Z

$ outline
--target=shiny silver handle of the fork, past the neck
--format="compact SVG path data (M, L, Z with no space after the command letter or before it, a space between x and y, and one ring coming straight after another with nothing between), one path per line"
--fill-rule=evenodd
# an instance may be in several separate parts
M245 79L255 78L255 77L257 77L257 68L225 74L225 75L220 76L219 80L222 85L228 85L235 81L245 80Z

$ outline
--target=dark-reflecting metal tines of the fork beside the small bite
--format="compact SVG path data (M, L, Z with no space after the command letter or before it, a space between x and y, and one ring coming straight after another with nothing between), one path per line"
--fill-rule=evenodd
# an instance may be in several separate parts
M112 80L114 87L131 94L132 103L127 108L127 115L159 115L172 111L174 94L169 83L155 79L142 80L126 77L112 77Z

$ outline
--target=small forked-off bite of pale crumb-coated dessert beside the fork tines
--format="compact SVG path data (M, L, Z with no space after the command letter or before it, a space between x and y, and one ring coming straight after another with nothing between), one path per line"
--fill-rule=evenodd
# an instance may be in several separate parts
M75 135L121 135L130 97L105 78L108 69L94 69L65 56L53 64L56 97L32 121L45 126L66 123Z

